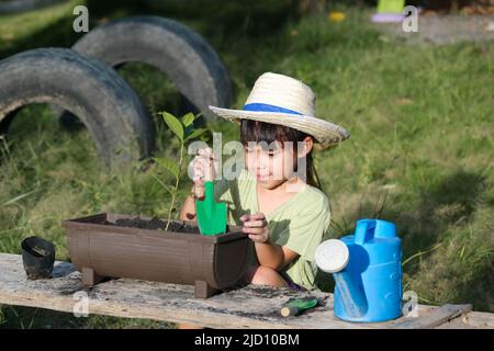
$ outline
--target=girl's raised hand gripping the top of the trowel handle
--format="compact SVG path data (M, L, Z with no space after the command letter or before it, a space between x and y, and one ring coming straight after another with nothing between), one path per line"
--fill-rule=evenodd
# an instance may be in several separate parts
M218 161L211 148L199 149L197 156L191 161L192 180L194 182L193 193L195 197L204 196L204 183L215 178L215 169Z

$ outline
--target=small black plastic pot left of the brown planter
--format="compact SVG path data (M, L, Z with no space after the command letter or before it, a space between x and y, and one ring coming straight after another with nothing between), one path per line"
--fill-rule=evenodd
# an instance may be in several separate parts
M22 262L27 279L46 279L52 275L55 263L55 246L40 237L22 240Z

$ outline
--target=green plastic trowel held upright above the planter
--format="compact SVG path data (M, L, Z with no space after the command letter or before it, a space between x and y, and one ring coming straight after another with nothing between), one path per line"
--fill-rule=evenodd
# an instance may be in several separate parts
M204 183L204 199L195 200L199 230L202 235L217 235L226 231L226 204L214 202L214 184Z

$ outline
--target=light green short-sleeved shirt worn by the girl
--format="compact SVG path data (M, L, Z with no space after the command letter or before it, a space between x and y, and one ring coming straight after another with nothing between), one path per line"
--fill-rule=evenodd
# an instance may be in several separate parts
M228 207L228 224L242 226L244 214L259 212L257 199L257 180L247 170L242 170L233 180L215 180L215 200L226 202ZM266 215L270 241L287 246L300 254L282 271L301 286L314 288L317 267L315 250L323 235L329 228L330 207L327 196L317 188L305 184L302 190L285 203ZM254 246L251 246L254 248ZM250 264L256 264L252 249Z

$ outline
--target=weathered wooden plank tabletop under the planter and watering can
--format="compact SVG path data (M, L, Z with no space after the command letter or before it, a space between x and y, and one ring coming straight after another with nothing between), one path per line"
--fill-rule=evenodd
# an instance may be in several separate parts
M333 294L323 292L300 293L249 285L197 299L193 286L130 279L111 280L86 288L81 274L67 262L57 262L53 275L49 280L29 281L21 256L0 253L0 304L72 313L78 303L75 294L82 291L89 297L90 315L193 322L210 328L435 328L458 318L475 328L492 328L494 324L491 314L481 315L481 321L476 324L469 320L473 314L465 314L470 310L469 305L419 305L417 318L353 324L333 315ZM302 316L281 317L280 308L285 301L308 295L316 295L322 306Z

